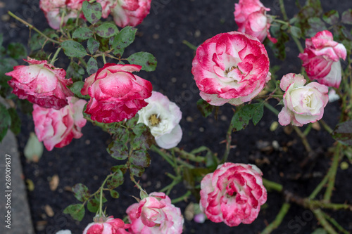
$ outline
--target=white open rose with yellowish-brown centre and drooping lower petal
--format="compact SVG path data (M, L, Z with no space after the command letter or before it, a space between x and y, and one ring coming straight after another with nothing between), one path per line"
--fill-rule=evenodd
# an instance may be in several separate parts
M153 91L146 99L148 105L139 110L137 123L146 124L159 147L174 148L182 139L180 120L182 112L167 96Z

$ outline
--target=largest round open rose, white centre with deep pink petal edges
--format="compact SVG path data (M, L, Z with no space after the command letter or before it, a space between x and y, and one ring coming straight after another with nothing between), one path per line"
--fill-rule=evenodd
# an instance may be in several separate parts
M221 33L204 41L192 66L200 96L211 105L248 102L271 78L263 44L241 32Z

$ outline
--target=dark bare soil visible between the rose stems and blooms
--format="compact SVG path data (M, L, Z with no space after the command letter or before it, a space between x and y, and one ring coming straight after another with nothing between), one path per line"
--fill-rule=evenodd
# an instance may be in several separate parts
M262 1L266 7L271 8L270 14L279 15L278 1ZM296 13L294 0L285 1L289 17ZM301 1L303 4L303 1ZM322 0L324 11L336 8L341 14L347 8L352 8L349 0L336 1ZM29 30L6 17L6 11L12 11L21 18L25 18L35 27L43 30L49 27L44 14L39 10L39 1L0 1L1 25L4 33L4 44L10 42L26 43ZM137 51L152 53L158 60L155 72L139 72L138 75L148 79L153 84L153 90L164 93L170 100L177 103L182 110L183 138L178 145L185 150L192 150L201 145L206 145L218 155L225 150L225 134L233 115L231 105L220 108L218 118L214 115L207 118L201 116L196 108L199 100L199 90L194 84L191 74L191 60L194 51L182 44L183 40L199 45L206 39L220 32L237 30L234 22L234 1L212 0L153 0L151 13L138 25L137 37L134 43L125 51L125 57ZM290 41L287 44L287 60L284 63L274 58L270 49L270 65L282 65L277 72L277 77L289 72L298 73L301 70L301 61L297 58L298 51ZM65 60L58 60L56 66L65 67ZM344 63L342 63L344 65ZM275 101L273 105L276 105ZM277 107L279 110L280 108ZM330 126L334 126L339 118L339 103L329 103L325 109L323 119ZM32 117L21 115L22 131L18 135L20 153L29 137L34 131ZM287 133L282 126L275 131L270 131L272 122L277 117L265 109L263 119L257 126L249 124L243 131L232 134L232 145L236 148L230 152L229 161L239 163L257 164L263 171L264 177L284 185L286 190L301 197L308 196L331 164L332 155L328 152L334 143L325 131L312 130L308 141L313 148L314 157L308 157L302 143L294 132ZM287 130L287 129L286 129ZM118 164L106 152L110 136L96 126L87 123L82 129L83 136L74 139L65 148L55 148L51 152L44 150L44 155L39 162L27 162L22 155L24 179L29 179L34 184L34 190L28 191L28 200L32 220L36 233L56 233L61 229L70 229L73 233L82 233L88 223L92 222L94 214L87 212L81 222L74 221L70 216L63 214L63 209L69 204L77 203L70 192L70 187L75 183L84 183L91 192L99 188L103 179L110 173L110 168ZM277 142L279 147L273 148L272 143ZM275 144L275 143L274 143ZM304 162L304 163L303 163ZM142 187L148 193L160 190L170 183L170 178L165 172L171 172L168 164L158 155L151 152L151 167L146 169L140 178ZM51 190L49 181L53 176L58 176L59 183L56 190ZM340 168L337 172L336 186L332 202L352 203L352 186L348 178L352 177L352 167L344 171ZM125 216L127 207L135 200L131 195L138 197L139 191L134 188L129 179L118 188L120 198L113 200L109 195L107 214L116 218ZM176 198L186 192L182 184L177 186L170 197ZM318 195L318 198L322 194ZM189 202L196 202L190 198L187 202L176 205L184 212ZM230 228L224 223L206 221L199 224L185 220L184 233L260 233L270 223L284 202L284 197L277 193L268 193L268 202L262 207L258 219L251 225L241 224ZM52 213L48 212L51 207ZM334 219L339 221L346 230L352 230L351 212L327 211ZM318 221L309 210L293 204L287 216L282 221L274 234L312 233L319 226Z

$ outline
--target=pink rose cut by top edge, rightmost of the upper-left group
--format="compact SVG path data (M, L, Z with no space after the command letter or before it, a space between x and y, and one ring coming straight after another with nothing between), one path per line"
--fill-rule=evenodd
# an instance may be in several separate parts
M113 20L119 27L137 26L151 9L151 0L118 0L111 10Z

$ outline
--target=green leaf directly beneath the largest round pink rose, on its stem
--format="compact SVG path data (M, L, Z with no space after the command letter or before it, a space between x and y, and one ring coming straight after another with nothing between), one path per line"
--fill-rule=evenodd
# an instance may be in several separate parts
M253 118L253 124L258 124L260 119L263 117L263 105L262 103L254 103L244 105L239 110L234 112L234 116L231 120L231 125L235 131L244 129L248 124L249 120Z

